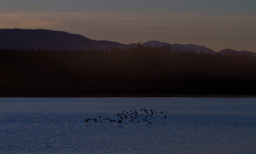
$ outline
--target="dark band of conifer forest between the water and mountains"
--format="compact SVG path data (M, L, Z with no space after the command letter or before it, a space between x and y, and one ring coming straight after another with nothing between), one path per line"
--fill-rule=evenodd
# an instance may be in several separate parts
M0 50L2 96L255 95L256 57L168 47Z

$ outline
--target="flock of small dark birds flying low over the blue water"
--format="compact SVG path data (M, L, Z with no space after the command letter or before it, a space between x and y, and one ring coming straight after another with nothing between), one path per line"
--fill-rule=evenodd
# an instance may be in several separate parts
M155 110L146 110L146 109L140 109L140 110L130 110L130 111L123 111L122 113L118 113L116 115L115 119L110 119L110 118L101 118L100 116L98 117L98 119L86 119L84 122L88 123L91 120L94 122L102 122L102 121L108 121L108 122L117 122L120 125L123 123L123 121L129 121L129 122L148 122L148 124L151 124L151 122L149 121L151 117L153 117L154 115L156 115L158 112ZM163 118L166 118L166 114L167 111L163 112L159 112L160 114L163 115Z

